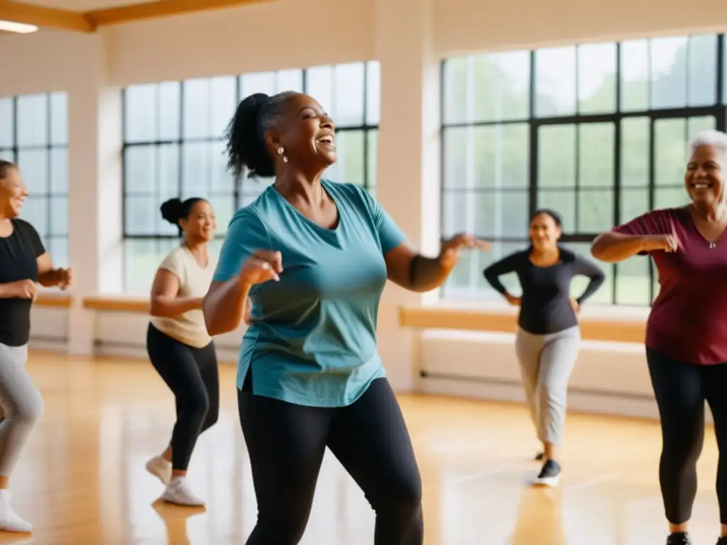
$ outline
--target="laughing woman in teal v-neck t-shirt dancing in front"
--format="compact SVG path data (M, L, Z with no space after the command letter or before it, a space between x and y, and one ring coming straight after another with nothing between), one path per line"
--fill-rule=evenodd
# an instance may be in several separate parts
M376 512L375 544L421 545L421 479L377 353L379 299L387 278L441 286L460 249L486 245L458 235L423 257L369 193L322 179L334 124L305 94L247 97L228 138L235 174L276 177L230 222L204 301L211 335L252 304L237 376L258 509L247 544L300 541L327 446Z

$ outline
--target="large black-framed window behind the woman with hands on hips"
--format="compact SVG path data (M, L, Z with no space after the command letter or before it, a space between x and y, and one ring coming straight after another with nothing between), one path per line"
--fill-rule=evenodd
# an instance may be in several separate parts
M724 52L710 34L444 61L443 236L494 241L492 252L463 254L444 296L498 298L482 270L526 248L538 208L559 211L563 243L589 256L598 233L686 203L688 139L725 129ZM594 302L651 303L648 259L604 268ZM516 278L503 283L518 290Z

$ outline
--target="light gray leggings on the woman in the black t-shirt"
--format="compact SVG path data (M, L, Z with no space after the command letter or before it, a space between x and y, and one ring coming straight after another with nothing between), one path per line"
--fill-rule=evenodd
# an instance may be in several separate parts
M28 345L9 347L0 343L0 475L9 477L33 427L43 415L43 398L25 371Z

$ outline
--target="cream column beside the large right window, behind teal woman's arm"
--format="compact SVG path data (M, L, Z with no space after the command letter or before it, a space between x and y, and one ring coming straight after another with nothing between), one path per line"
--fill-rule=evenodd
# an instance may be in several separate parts
M377 198L412 245L438 253L439 66L433 55L432 1L377 0L381 126ZM432 294L428 294L431 296ZM398 308L421 294L389 285L379 310L379 352L393 387L414 389L418 339L398 325Z

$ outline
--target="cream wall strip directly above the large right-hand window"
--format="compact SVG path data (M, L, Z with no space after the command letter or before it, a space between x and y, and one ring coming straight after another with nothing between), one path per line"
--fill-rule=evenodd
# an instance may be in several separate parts
M727 5L711 0L439 0L435 47L442 55L533 49L585 41L723 32Z

